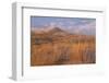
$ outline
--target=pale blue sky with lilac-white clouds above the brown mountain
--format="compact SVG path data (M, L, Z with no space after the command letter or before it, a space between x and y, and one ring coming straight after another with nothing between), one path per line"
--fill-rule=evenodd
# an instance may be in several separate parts
M96 34L96 19L31 16L32 28L60 27L70 33Z

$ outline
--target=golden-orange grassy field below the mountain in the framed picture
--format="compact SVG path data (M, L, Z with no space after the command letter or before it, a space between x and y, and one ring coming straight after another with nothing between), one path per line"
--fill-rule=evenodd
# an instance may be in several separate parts
M32 32L31 38L31 66L96 62L94 36Z

